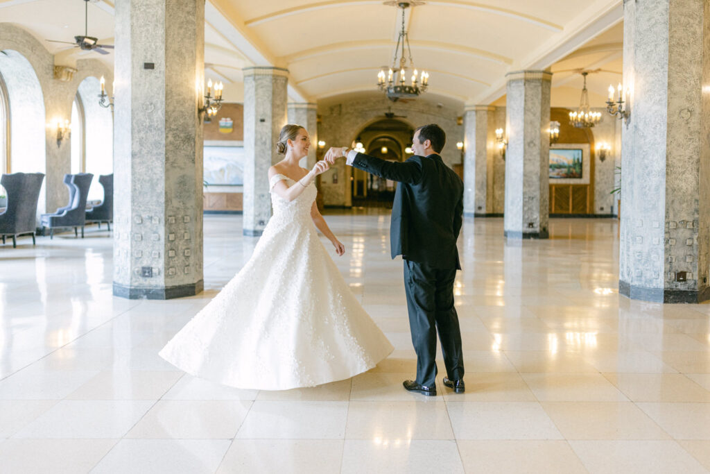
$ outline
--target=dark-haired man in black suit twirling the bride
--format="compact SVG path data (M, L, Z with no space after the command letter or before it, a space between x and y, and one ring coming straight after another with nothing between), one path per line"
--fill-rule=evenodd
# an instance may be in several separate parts
M346 163L382 178L398 181L392 207L392 258L404 259L412 343L417 352L417 379L405 380L409 392L436 395L437 329L447 377L444 385L461 393L464 359L461 329L454 308L454 279L459 264L456 246L464 212L464 184L439 156L446 134L437 124L420 126L414 133L414 156L391 162L348 150L331 148L325 159Z

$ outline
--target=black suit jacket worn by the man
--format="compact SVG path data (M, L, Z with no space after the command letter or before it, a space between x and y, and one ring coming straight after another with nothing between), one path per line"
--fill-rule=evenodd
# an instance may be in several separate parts
M392 205L392 258L439 269L461 269L456 241L464 214L464 183L441 156L412 156L403 163L357 153L353 166L398 181Z

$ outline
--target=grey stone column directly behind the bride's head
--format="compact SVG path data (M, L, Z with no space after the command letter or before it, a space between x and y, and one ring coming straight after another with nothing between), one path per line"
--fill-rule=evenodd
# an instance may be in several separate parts
M271 217L268 168L286 124L288 70L244 68L244 235L258 236Z

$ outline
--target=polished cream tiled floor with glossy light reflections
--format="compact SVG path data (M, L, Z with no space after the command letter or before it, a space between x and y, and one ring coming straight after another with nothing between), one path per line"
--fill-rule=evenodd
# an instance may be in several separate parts
M158 350L244 264L238 216L206 216L205 291L111 296L111 239L0 247L4 473L703 473L710 305L617 291L616 220L551 220L506 242L466 220L456 284L465 394L405 392L415 355L387 210L328 215L335 257L395 345L375 370L257 392L194 379ZM330 248L330 247L329 247ZM440 358L440 357L439 357Z

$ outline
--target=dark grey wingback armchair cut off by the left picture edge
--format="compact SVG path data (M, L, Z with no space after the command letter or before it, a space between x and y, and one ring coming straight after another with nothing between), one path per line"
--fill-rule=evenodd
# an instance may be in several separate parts
M7 207L0 214L3 244L5 237L11 235L12 247L17 247L18 235L26 234L32 235L32 244L35 244L35 216L43 180L43 173L12 173L0 178L0 184L7 191Z

